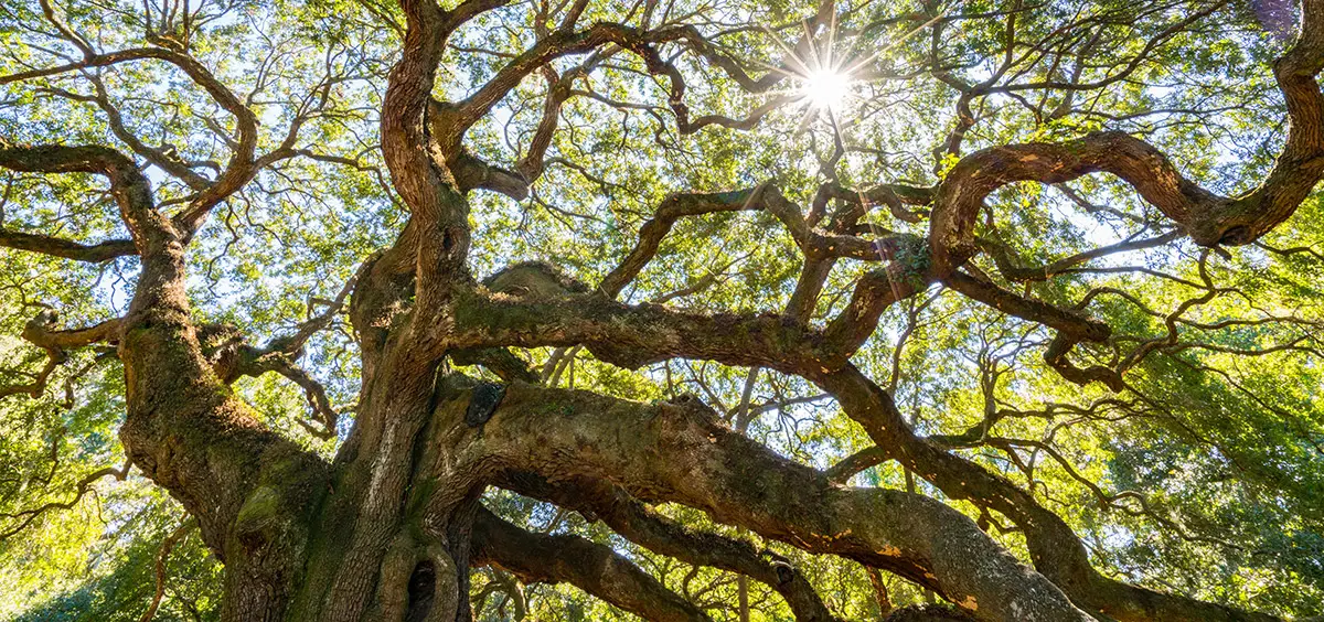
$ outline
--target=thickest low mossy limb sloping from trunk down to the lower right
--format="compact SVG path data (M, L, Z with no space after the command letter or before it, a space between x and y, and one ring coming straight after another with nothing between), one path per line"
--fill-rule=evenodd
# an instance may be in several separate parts
M470 397L449 394L438 421L465 421ZM438 427L434 446L470 449L438 453L429 471L482 465L556 479L609 476L642 498L685 503L764 537L896 572L982 619L1088 619L955 510L904 492L837 487L698 405L646 406L512 384L479 427ZM465 441L477 434L481 443Z

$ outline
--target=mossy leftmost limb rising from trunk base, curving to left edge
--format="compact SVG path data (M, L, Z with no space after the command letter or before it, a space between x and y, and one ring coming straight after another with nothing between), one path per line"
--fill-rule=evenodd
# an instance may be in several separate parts
M142 258L128 314L99 331L118 332L124 363L128 414L120 439L131 462L197 517L203 540L230 564L226 592L256 598L228 606L281 609L297 573L290 572L291 560L261 552L275 541L306 537L301 529L311 499L322 492L315 482L326 466L265 429L203 356L184 287L188 232L156 210L147 177L118 151L4 143L0 167L110 180ZM77 331L44 327L41 332L60 340L89 339ZM265 588L252 590L254 585Z

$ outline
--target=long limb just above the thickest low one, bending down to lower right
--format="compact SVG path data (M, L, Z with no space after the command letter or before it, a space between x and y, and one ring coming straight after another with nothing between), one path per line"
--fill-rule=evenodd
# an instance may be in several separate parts
M891 398L853 367L833 367L838 360L825 340L804 328L777 322L775 318L695 316L655 307L626 307L608 300L515 303L483 302L473 315L461 312L457 328L487 324L478 341L518 345L587 344L602 360L624 367L638 367L669 357L718 360L726 364L769 367L805 376L838 397L847 414L865 425L874 441L902 463L931 479L952 498L988 504L1033 533L1031 551L1038 551L1037 564L1082 605L1106 609L1110 615L1144 619L1141 611L1196 611L1194 615L1223 615L1239 619L1246 615L1230 609L1201 603L1182 597L1128 586L1102 577L1088 564L1084 549L1071 529L1057 515L1043 510L1014 484L996 478L981 467L915 438ZM512 304L503 310L500 306ZM462 308L467 304L462 304ZM515 311L516 307L523 307ZM524 326L524 314L539 318L538 331ZM601 314L601 315L598 315ZM493 331L493 327L499 327ZM740 339L733 339L737 335ZM814 355L817 352L817 355ZM833 369L838 369L833 372ZM1026 528L1025 525L1031 525ZM1042 560L1042 561L1041 561ZM1136 613L1127 613L1136 611ZM1182 614L1186 615L1186 614ZM1192 619L1192 618L1172 618Z

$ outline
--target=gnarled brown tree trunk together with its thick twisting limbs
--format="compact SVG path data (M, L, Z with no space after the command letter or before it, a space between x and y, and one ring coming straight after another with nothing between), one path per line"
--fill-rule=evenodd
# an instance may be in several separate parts
M363 356L361 398L354 433L331 463L260 425L228 385L242 373L287 368L271 360L267 368L217 363L200 341L204 327L192 319L185 295L189 238L261 161L253 152L256 119L242 102L196 61L168 50L90 54L79 65L172 62L234 115L234 157L216 181L193 180L200 192L173 220L163 216L134 160L114 150L0 144L0 165L9 169L109 180L131 244L85 245L8 230L0 232L0 244L87 262L140 257L142 274L124 318L83 331L60 331L45 318L25 336L53 361L65 348L118 345L128 405L120 438L132 465L196 516L203 540L224 561L225 619L465 621L471 615L469 570L475 564L499 565L528 581L571 582L647 619L707 619L609 548L528 533L493 515L479 503L490 486L592 512L647 549L761 581L804 621L833 615L801 572L747 543L685 529L647 503L685 504L769 540L895 573L976 619L1272 619L1100 574L1058 515L1012 482L915 435L891 394L850 357L890 304L943 282L1057 331L1045 356L1068 380L1121 386L1125 369L1079 369L1067 360L1075 344L1106 340L1107 324L963 271L980 250L974 224L985 197L1010 183L1053 184L1110 172L1200 245L1259 238L1324 175L1324 99L1315 79L1324 66L1324 0L1304 1L1301 36L1274 65L1291 130L1272 172L1246 196L1221 197L1200 188L1158 150L1121 132L994 147L960 159L935 189L880 185L858 201L846 197L830 218L825 205L842 199L838 187L825 187L822 202L808 216L771 184L673 196L592 291L530 266L485 283L469 274L466 193L527 191L542 169L551 130L539 134L536 154L518 173L465 154L465 131L549 61L608 45L637 54L649 73L667 78L669 105L682 131L723 123L688 120L683 79L657 46L687 42L716 66L736 69L716 58L692 29L641 32L597 24L576 30L572 21L512 58L469 99L436 102L433 81L448 36L502 4L467 0L444 11L428 0L401 0L406 30L385 91L381 148L410 217L396 245L363 265L350 296ZM775 82L745 77L740 83L768 89ZM564 89L556 93L568 97ZM560 102L548 103L548 123L555 124L559 110ZM922 216L904 205L927 206L928 240L859 233L869 200L910 221ZM802 251L802 278L785 314L711 315L614 300L678 218L733 210L768 212ZM829 224L820 228L825 218ZM846 308L817 330L806 318L837 259L887 265L862 278ZM1046 278L1047 271L1026 278ZM876 443L875 455L863 459L896 461L948 498L1006 516L1023 532L1033 568L941 502L842 486L841 474L829 478L779 457L696 401L646 405L539 386L539 376L506 349L532 347L584 347L624 368L699 359L806 378L835 397ZM249 352L244 360L254 364L273 352L281 353ZM448 372L448 357L485 365L506 382L482 384ZM911 610L888 619L961 618Z

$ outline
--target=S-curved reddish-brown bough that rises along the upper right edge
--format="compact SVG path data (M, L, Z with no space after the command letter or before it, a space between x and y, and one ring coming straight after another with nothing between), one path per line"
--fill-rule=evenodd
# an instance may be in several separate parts
M1222 197L1181 175L1157 148L1119 131L1059 144L990 147L956 164L937 189L929 244L939 277L976 251L974 220L984 199L1017 181L1059 184L1082 175L1121 177L1202 246L1259 240L1291 216L1324 175L1324 95L1315 75L1324 67L1324 1L1303 3L1301 30L1274 65L1291 122L1278 163L1255 191Z

